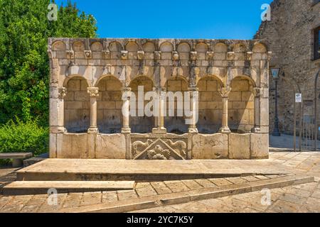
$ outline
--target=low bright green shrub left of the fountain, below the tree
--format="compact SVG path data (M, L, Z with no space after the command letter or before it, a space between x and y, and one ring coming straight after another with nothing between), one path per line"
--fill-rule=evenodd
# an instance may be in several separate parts
M0 126L0 153L47 153L49 130L38 125L37 120L23 122L18 118Z

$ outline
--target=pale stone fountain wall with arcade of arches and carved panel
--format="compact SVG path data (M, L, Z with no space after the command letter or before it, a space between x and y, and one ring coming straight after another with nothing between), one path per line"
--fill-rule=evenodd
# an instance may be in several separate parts
M48 55L52 158L269 157L271 52L262 40L50 38ZM139 86L191 91L198 122L122 116Z

